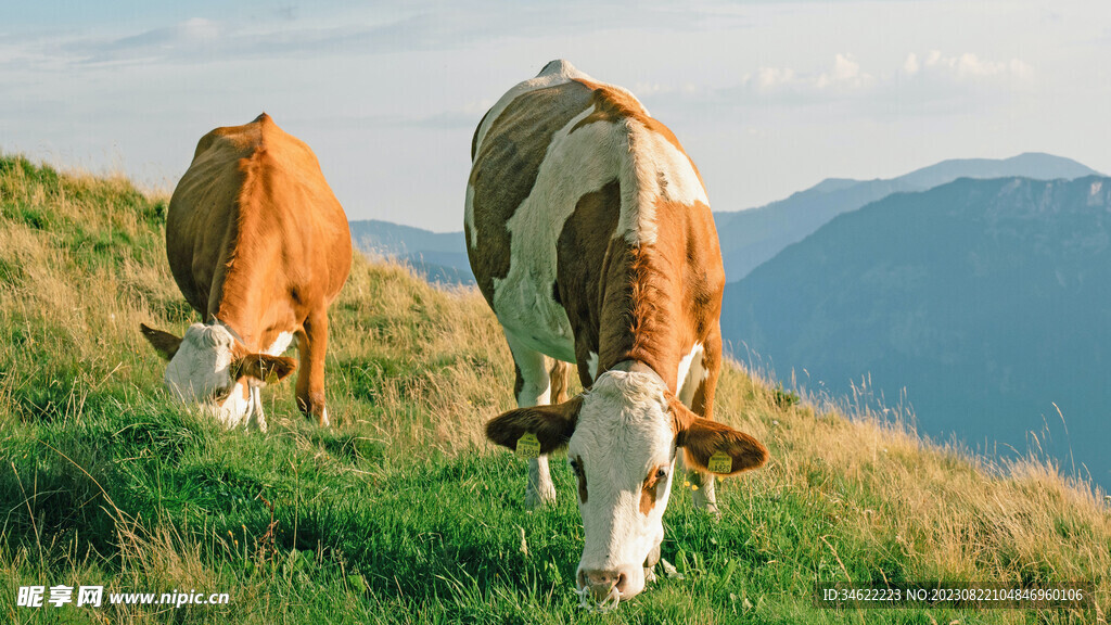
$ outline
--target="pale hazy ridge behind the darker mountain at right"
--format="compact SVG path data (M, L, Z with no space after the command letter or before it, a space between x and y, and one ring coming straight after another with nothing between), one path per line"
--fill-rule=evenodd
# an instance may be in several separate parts
M827 179L760 208L717 212L725 276L735 281L787 246L801 241L830 219L899 191L923 191L958 178L1024 177L1075 179L1098 171L1074 160L1023 153L1003 160L953 159L889 180Z

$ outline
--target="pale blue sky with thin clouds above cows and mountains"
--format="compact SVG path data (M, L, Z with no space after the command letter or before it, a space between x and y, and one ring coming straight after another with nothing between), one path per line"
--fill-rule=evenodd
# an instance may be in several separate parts
M170 191L266 111L351 219L462 227L486 110L550 60L629 88L714 210L1027 151L1111 173L1107 0L0 0L0 151Z

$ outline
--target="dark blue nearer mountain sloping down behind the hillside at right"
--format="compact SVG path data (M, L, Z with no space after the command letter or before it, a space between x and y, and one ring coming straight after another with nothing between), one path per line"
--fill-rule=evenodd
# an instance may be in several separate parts
M921 431L972 445L1048 428L1111 487L1111 178L891 195L728 285L723 310L733 353L779 379L838 396L870 375Z

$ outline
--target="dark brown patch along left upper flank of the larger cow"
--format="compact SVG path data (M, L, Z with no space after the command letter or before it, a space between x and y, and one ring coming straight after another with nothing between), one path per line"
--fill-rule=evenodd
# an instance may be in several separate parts
M590 106L591 91L567 82L521 93L490 125L476 146L469 185L478 241L464 232L479 290L493 302L493 280L509 274L506 225L536 185L552 136Z

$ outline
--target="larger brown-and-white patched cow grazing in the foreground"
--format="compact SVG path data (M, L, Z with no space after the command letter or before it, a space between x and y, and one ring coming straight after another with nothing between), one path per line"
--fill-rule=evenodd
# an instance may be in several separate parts
M723 475L768 456L710 419L724 271L709 200L667 127L567 61L487 112L471 159L467 248L513 354L520 406L487 436L568 447L585 534L580 595L613 604L641 592L659 559L677 448L698 472L724 454L713 463ZM560 360L578 365L587 390L548 405ZM698 472L695 503L715 510L713 478ZM530 460L527 500L554 497L547 458Z

